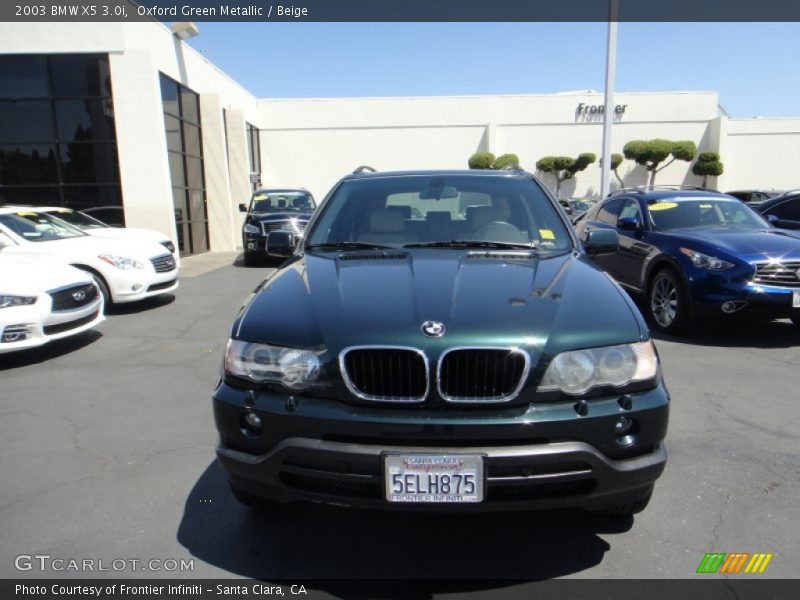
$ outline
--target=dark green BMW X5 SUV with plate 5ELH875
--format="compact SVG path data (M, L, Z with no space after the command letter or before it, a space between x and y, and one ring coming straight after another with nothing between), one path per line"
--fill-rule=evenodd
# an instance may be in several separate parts
M245 504L642 510L669 394L647 326L522 171L376 173L328 194L239 312L214 390Z

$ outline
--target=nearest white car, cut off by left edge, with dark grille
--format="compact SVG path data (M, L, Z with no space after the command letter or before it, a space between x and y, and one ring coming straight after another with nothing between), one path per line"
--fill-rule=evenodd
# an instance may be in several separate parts
M105 319L91 275L0 255L0 354L82 333Z

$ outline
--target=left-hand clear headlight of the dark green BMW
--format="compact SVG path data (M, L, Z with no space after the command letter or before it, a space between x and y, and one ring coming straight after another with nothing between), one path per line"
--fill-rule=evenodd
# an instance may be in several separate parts
M316 352L229 340L225 349L225 372L257 383L272 381L292 390L313 385L321 363Z

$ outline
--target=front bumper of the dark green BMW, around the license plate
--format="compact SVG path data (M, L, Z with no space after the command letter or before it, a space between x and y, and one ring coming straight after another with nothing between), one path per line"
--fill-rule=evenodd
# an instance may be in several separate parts
M663 439L669 395L657 388L588 402L508 409L430 411L375 409L319 398L258 392L248 407L242 390L221 384L214 394L220 432L217 456L234 485L278 501L307 500L391 509L528 510L605 508L647 495L666 463ZM262 421L243 426L252 411ZM620 416L636 423L635 442L614 435ZM480 504L389 503L383 456L478 454L486 497Z

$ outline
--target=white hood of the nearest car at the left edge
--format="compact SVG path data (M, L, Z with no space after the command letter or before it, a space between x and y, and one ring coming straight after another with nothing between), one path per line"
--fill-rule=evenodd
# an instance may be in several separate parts
M38 296L48 290L91 282L90 275L68 265L0 256L0 294Z

